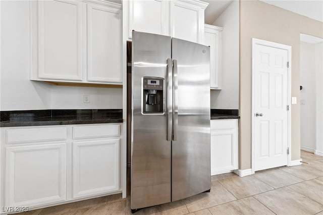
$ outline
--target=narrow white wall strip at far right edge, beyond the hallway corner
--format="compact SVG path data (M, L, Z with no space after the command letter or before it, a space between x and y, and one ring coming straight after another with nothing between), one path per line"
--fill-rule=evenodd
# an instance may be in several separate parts
M316 151L323 156L323 42L315 45Z

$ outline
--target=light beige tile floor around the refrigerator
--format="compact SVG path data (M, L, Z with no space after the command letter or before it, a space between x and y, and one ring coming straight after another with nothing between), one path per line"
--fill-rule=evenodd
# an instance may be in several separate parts
M141 214L319 214L323 215L323 158L301 151L301 166L281 167L240 178L212 176L211 191L145 208ZM25 214L131 214L121 194L28 211Z

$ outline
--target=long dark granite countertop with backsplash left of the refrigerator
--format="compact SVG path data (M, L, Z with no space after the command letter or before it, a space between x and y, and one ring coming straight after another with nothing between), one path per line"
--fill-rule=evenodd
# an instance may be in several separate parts
M122 123L122 109L0 112L0 127Z

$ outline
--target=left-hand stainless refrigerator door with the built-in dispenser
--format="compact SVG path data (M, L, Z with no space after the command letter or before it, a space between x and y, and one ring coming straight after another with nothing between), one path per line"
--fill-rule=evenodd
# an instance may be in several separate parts
M172 104L167 99L168 82L172 83L168 74L169 69L172 73L170 59L171 37L133 31L131 209L171 201L172 109L168 106ZM161 111L155 108L160 102Z

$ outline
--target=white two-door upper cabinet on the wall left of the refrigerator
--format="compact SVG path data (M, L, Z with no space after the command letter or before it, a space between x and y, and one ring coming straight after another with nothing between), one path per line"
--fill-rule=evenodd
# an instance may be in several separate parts
M122 6L33 1L31 80L122 84Z

